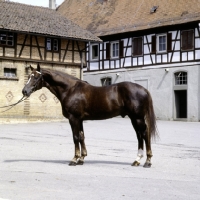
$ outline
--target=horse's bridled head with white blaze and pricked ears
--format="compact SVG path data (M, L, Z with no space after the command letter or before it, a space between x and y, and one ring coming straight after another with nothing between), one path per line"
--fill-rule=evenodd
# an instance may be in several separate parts
M31 74L28 77L28 81L22 90L22 94L29 97L33 92L42 88L42 73L40 71L40 65L38 64L37 69L32 66Z

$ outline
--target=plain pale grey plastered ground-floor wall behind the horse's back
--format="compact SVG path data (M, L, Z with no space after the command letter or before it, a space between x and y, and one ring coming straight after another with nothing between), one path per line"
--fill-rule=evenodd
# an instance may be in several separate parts
M188 72L188 121L200 120L200 66L170 67L154 69L121 69L118 71L105 71L99 73L85 73L84 80L92 85L101 86L101 78L111 77L112 83L122 81L144 82L147 80L155 113L158 119L174 119L174 73L177 71ZM116 74L119 76L116 76Z

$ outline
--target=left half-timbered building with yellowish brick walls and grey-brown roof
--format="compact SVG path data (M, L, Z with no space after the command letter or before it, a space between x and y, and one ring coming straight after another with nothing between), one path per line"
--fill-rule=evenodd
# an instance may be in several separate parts
M88 42L100 39L55 10L0 1L0 106L16 103L30 73L27 66L61 70L81 78ZM58 99L47 89L3 112L7 119L60 119Z

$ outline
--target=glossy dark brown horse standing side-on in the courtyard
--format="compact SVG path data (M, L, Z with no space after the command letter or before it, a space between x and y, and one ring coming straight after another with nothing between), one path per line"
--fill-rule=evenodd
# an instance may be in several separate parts
M152 98L145 88L131 82L94 87L66 73L41 69L39 64L37 69L31 67L31 70L23 95L29 97L42 87L48 88L60 100L62 113L69 119L75 145L75 155L69 165L82 165L87 156L84 120L127 115L138 139L138 154L132 166L140 164L145 142L147 159L144 167L151 167L151 138L157 136L157 131Z

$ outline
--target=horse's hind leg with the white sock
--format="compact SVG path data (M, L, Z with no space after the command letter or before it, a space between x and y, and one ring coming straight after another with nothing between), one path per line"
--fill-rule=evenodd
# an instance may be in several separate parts
M137 154L137 157L135 159L135 161L132 163L132 166L139 166L140 165L140 160L142 159L143 157L143 137L142 137L142 133L140 131L141 129L141 124L139 123L138 120L132 118L131 119L131 122L132 122L132 125L135 129L135 132L136 132L136 135L137 135L137 139L138 139L138 154Z

